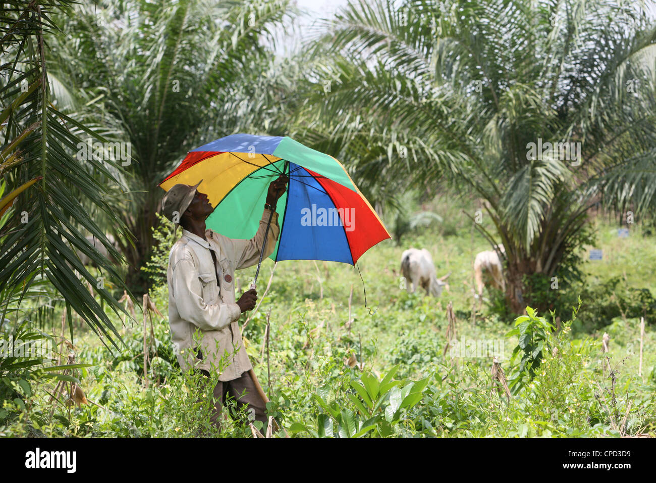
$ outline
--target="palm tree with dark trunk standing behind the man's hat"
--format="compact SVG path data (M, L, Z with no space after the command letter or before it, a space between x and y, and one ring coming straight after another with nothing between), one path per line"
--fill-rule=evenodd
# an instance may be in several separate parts
M255 92L272 52L263 39L292 12L287 0L104 1L62 20L58 76L81 96L102 97L96 116L131 145L122 168L130 190L115 202L133 239L116 238L136 290L146 288L138 269L153 244L157 183L187 150L264 110L266 96Z

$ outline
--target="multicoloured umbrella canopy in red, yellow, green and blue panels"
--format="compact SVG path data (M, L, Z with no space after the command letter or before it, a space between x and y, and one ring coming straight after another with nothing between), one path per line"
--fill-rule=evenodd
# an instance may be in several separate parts
M392 238L344 166L289 137L234 134L188 152L159 186L203 183L214 212L205 225L234 239L258 229L266 193L289 177L277 202L280 236L270 255L279 260L327 260L354 265L378 242Z

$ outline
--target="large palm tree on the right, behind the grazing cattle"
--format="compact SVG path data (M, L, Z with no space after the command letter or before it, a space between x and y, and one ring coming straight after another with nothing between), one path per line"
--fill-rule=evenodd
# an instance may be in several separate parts
M653 209L656 24L647 12L605 0L360 0L310 47L335 58L313 72L333 80L328 94L314 87L313 128L348 133L356 117L362 130L383 126L420 153L405 170L412 184L448 180L482 198L484 212L465 215L504 244L506 296L521 311L527 277L567 276L589 241L594 202L632 203L636 216ZM366 157L357 138L344 145Z

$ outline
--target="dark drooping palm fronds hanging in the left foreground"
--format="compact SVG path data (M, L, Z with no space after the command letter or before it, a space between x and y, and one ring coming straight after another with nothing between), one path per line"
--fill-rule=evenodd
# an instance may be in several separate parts
M104 304L117 314L123 308L104 281L122 288L125 284L81 233L92 233L119 258L94 220L100 213L112 219L118 231L123 227L106 202L106 185L99 181L102 175L118 183L108 169L115 163L75 156L80 142L76 133L104 138L57 108L62 98L55 97L56 81L47 70L51 58L46 46L56 29L50 19L70 9L71 3L11 1L0 9L0 191L8 193L0 200L0 294L6 295L0 300L0 320L7 313L19 313L31 287L47 283L64 298L71 339L75 311L103 342L116 346L114 336L120 336ZM100 268L102 279L85 269L72 247ZM80 281L75 270L85 280ZM12 322L22 323L17 318Z

